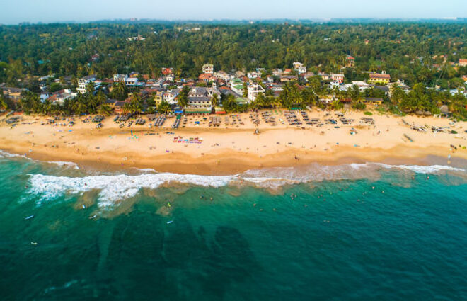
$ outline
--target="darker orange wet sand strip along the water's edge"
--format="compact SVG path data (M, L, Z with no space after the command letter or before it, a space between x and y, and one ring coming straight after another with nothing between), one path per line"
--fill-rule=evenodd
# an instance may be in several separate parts
M9 142L8 142L9 143ZM340 147L335 152L311 152L300 149L279 152L277 154L269 154L263 157L250 155L246 157L241 152L218 152L217 154L207 154L202 159L196 157L187 157L187 154L172 153L168 156L158 157L141 157L139 161L132 163L126 162L122 165L118 163L120 156L117 154L105 154L107 157L102 160L83 159L80 154L67 152L58 152L50 154L49 149L35 148L34 152L28 152L28 147L16 145L14 147L0 147L1 151L27 158L45 162L70 162L79 166L80 169L88 171L134 171L153 169L158 173L173 173L173 174L199 174L209 176L224 176L239 174L250 169L263 169L274 167L297 167L308 166L311 164L320 164L325 166L337 166L342 164L365 164L365 163L381 163L389 165L446 165L458 168L467 167L467 156L453 154L448 160L445 147L408 147L399 145L392 149L359 149L355 152L350 147ZM103 153L88 153L91 157ZM129 158L133 157L133 154ZM399 155L397 155L399 154ZM242 156L242 157L240 157ZM294 156L299 157L299 160L294 159ZM131 160L131 159L130 159ZM192 163L192 161L198 161ZM449 164L448 164L449 161ZM195 172L194 172L195 171Z

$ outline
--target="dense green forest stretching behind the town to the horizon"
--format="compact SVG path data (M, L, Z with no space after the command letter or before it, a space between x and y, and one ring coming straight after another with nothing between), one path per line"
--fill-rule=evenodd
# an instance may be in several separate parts
M137 35L145 39L127 40ZM206 62L226 72L283 69L295 61L311 72L339 72L346 55L356 58L347 81L386 70L409 85L447 88L461 85L467 74L466 67L449 64L467 58L466 23L461 22L54 23L1 25L0 39L0 82L10 85L47 74L158 76L161 67L194 77Z

